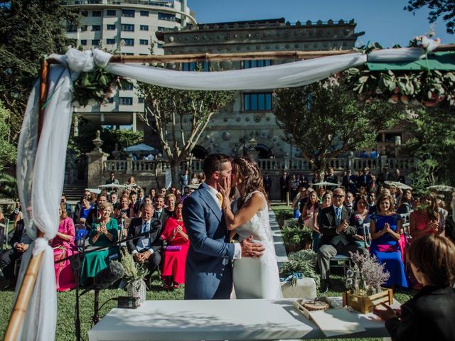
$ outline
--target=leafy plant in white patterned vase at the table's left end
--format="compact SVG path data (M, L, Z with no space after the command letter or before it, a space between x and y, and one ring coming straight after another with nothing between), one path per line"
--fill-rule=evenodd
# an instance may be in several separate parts
M132 254L126 249L122 249L122 265L125 269L124 279L127 281L128 295L139 297L141 303L146 299L146 283L145 278L149 274L144 264L139 264L134 261Z

